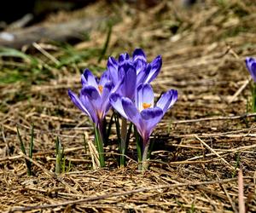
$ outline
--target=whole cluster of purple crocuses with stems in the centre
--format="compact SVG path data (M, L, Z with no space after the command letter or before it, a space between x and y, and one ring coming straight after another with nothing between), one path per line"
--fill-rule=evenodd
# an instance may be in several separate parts
M103 72L102 78L96 79L86 69L81 77L82 89L80 94L75 95L68 90L68 95L74 105L90 117L95 124L96 135L100 141L96 142L101 165L104 166L103 143L104 119L110 108L121 118L121 135L119 151L125 155L127 141L127 120L136 128L141 136L142 158L144 163L148 158L149 137L156 124L160 122L166 111L177 101L177 90L171 89L160 96L159 101L154 104L154 91L149 84L156 78L162 66L161 56L157 56L148 63L143 49L135 49L132 57L127 53L119 55L116 60L109 57L107 70ZM119 119L116 119L119 122ZM118 127L119 125L117 125ZM117 130L119 131L119 130ZM123 161L120 164L124 164ZM145 166L140 169L145 170Z

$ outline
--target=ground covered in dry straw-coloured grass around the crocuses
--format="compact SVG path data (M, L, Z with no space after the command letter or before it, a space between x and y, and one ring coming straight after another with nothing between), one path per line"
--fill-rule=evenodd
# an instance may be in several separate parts
M112 20L100 62L108 21L73 45L44 42L23 48L21 56L9 56L10 49L0 53L0 210L239 212L240 169L246 210L256 212L256 125L244 62L256 56L256 3L206 0L185 9L172 1L154 7L99 1L46 21L84 15ZM131 54L137 47L149 61L162 55L154 91L177 89L178 101L154 130L147 172L137 171L132 141L127 166L118 167L114 134L105 148L107 167L93 170L90 150L84 149L84 133L92 140L92 126L67 89L79 91L84 68L99 75L108 55ZM33 174L27 176L16 126L28 147L32 124ZM67 162L60 176L56 136Z

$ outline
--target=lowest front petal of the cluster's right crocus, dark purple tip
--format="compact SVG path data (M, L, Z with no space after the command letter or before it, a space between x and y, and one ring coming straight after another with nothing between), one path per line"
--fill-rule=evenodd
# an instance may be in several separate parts
M141 117L143 119L143 141L148 141L154 127L160 122L163 115L163 111L160 107L144 109L141 112Z

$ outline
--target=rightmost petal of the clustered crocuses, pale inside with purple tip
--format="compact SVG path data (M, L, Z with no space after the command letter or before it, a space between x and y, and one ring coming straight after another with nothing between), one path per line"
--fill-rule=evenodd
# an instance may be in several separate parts
M160 96L156 107L160 107L164 113L177 101L177 90L171 89Z

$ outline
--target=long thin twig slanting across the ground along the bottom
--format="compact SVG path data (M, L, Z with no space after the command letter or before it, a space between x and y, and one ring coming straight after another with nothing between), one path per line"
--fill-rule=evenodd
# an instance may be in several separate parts
M249 176L243 177L243 179L251 179L251 178L252 177L249 177ZM89 197L87 199L77 199L77 200L62 202L59 204L43 204L43 205L26 206L26 207L14 207L14 208L9 209L7 212L39 210L39 209L42 210L42 209L55 208L55 207L59 207L59 206L66 206L68 204L80 204L80 203L89 202L89 201L96 201L96 200L101 200L101 199L109 199L109 198L113 198L113 197L131 195L134 193L144 193L144 192L160 190L160 189L164 189L164 188L212 185L212 184L220 184L220 183L226 183L226 182L236 181L236 180L237 180L236 178L230 178L230 179L224 179L224 180L218 180L218 181L186 182L186 183L159 185L159 186L155 186L155 187L143 187L143 188L138 188L138 189L131 190L128 192L110 193L110 194L108 193L108 194L101 195L101 196Z

